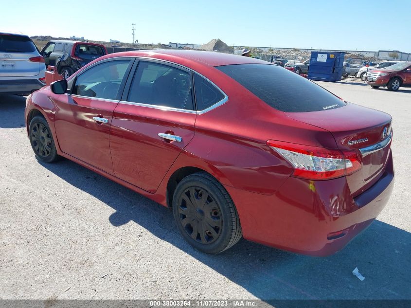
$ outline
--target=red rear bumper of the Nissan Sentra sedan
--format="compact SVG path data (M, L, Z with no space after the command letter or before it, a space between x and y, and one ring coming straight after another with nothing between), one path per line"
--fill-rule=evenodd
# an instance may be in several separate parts
M246 239L300 254L327 256L345 247L387 204L393 158L381 178L353 198L345 177L328 181L288 178L271 196L226 187ZM344 231L336 238L333 233Z

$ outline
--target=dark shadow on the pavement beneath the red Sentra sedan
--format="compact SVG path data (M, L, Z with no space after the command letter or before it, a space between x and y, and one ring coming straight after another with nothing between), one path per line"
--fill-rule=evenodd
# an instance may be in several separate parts
M170 209L69 160L41 164L113 208L115 212L107 217L112 225L132 221L142 226L257 298L411 299L411 234L390 224L376 220L329 257L287 253L246 240L221 254L208 255L183 240ZM356 267L364 281L352 274ZM282 302L275 305L281 307Z

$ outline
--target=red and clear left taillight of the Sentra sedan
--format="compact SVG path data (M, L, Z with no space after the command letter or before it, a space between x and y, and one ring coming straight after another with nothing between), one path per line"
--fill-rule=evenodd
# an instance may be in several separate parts
M294 167L293 176L299 178L329 180L361 168L359 156L354 151L340 151L274 140L268 140L267 145L291 163Z

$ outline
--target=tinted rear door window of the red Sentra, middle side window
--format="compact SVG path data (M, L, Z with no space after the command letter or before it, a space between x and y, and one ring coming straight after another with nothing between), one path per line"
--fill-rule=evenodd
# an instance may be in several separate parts
M140 61L127 101L194 110L190 73L175 67Z

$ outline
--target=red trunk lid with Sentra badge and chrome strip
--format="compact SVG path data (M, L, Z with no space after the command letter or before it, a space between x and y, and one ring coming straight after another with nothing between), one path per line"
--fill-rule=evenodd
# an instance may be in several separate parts
M383 173L391 147L392 117L382 111L347 103L346 106L313 112L287 112L288 117L328 130L341 150L356 151L361 169L347 175L355 196L372 186ZM375 150L373 145L382 148ZM386 146L383 147L383 145Z

